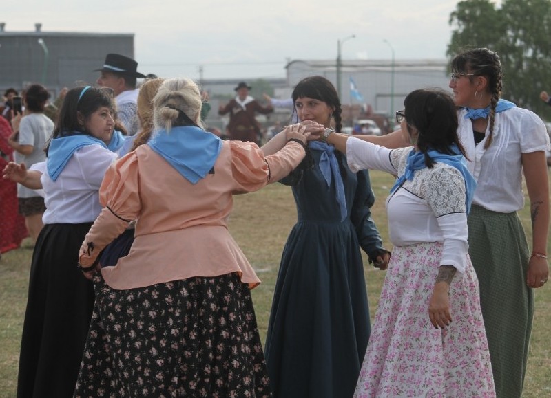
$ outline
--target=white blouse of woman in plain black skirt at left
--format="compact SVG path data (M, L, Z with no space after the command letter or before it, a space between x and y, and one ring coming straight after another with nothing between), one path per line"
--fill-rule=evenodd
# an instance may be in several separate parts
M41 182L45 193L46 211L42 216L44 224L91 223L101 211L99 187L107 168L116 159L116 153L92 144L73 153L69 162L53 181L45 170L46 162L40 168Z

